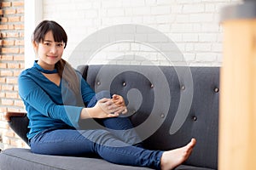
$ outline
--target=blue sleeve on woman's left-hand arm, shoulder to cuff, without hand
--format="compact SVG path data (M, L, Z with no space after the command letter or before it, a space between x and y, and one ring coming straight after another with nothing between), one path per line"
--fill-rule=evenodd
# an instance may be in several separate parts
M19 94L26 109L32 107L44 116L61 120L72 127L79 127L79 116L83 107L56 105L31 77L26 75L19 77Z

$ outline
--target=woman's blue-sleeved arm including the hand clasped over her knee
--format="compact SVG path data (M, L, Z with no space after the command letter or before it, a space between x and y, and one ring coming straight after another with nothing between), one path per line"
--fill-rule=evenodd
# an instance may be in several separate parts
M88 85L89 86L89 85ZM88 89L88 87L86 87ZM113 104L111 99L100 99L94 107L84 108L73 105L56 105L49 95L38 86L32 78L25 76L19 77L19 93L26 108L32 107L44 116L66 122L72 127L79 127L79 118L107 118L119 116L119 107ZM87 94L94 95L89 88Z

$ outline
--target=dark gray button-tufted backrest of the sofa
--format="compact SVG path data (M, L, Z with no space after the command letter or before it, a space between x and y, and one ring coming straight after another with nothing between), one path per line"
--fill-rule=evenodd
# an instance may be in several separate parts
M218 167L218 67L80 65L96 92L124 97L128 116L151 150L170 150L197 140L185 162Z

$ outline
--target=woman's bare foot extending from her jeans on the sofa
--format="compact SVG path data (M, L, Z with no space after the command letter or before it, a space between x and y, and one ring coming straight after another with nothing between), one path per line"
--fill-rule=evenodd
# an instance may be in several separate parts
M165 151L160 161L161 170L173 169L174 167L182 164L183 161L186 161L189 158L195 143L195 139L191 139L189 144L181 148Z

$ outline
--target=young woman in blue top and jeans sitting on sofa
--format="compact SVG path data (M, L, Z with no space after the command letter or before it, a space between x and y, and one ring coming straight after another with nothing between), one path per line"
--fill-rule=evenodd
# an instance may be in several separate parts
M78 71L61 59L67 34L52 20L34 30L32 45L38 60L19 77L20 98L30 120L27 134L31 150L59 156L101 156L117 164L172 169L185 161L195 139L176 150L146 150L137 133L115 133L132 129L124 99L106 92L95 94ZM79 121L96 119L107 128L79 130ZM108 130L109 128L109 130ZM111 129L110 129L111 128Z

